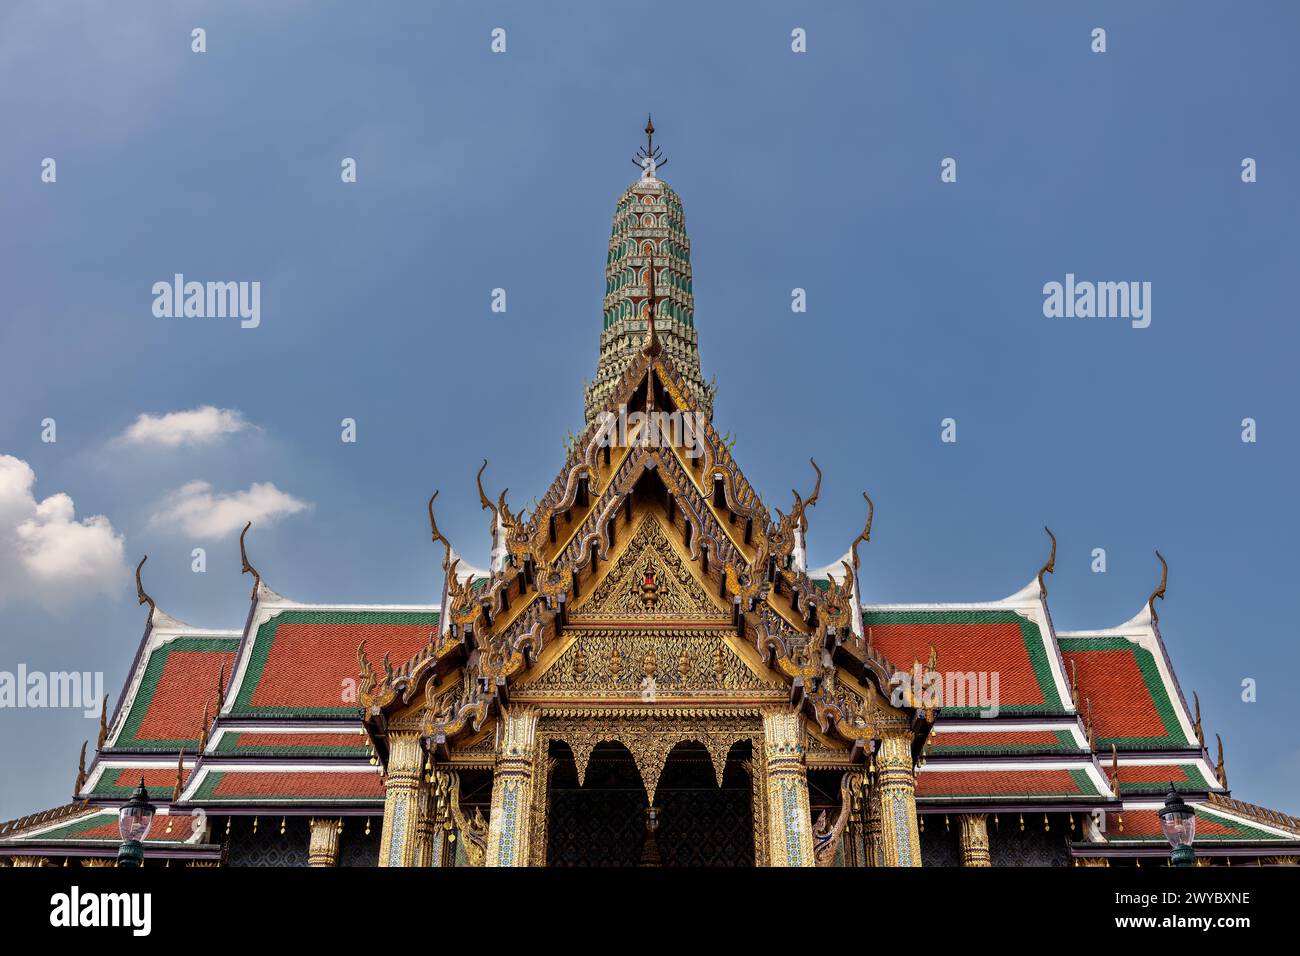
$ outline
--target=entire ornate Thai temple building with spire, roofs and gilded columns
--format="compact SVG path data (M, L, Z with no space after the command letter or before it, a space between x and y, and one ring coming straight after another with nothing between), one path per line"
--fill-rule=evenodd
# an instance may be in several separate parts
M870 498L807 567L820 472L777 507L716 431L646 133L584 431L530 512L478 471L490 567L434 494L438 604L283 597L248 528L242 627L169 617L139 568L144 635L73 799L0 826L0 858L112 865L143 779L147 866L1161 866L1170 786L1200 864L1300 860L1300 819L1210 757L1164 578L1130 620L1058 632L1053 538L1002 600L866 605Z

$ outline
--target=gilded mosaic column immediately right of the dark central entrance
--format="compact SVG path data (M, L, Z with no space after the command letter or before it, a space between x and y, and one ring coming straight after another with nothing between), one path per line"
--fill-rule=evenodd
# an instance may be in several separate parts
M803 718L797 711L763 714L763 737L772 866L815 866L803 763Z

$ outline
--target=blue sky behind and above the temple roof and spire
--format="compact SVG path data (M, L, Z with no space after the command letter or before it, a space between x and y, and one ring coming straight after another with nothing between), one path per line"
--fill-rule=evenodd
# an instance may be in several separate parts
M867 489L866 600L996 600L1050 524L1053 619L1082 630L1138 611L1160 548L1165 641L1235 795L1300 813L1297 26L1284 3L5 4L0 454L34 483L0 490L0 670L101 670L116 696L144 553L161 607L242 627L222 496L268 510L254 561L296 600L436 601L436 488L485 564L474 470L524 505L581 424L653 111L715 423L770 506L816 457L811 563ZM177 272L260 281L261 325L153 317ZM1152 282L1150 328L1044 317L1066 273ZM130 440L202 406L238 431ZM74 518L32 511L58 494ZM0 710L0 818L65 803L95 727Z

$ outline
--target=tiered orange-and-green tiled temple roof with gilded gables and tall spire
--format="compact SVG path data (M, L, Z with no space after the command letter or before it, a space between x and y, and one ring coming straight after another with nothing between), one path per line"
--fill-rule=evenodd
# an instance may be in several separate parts
M646 156L658 156L653 143ZM1228 799L1222 752L1209 760L1199 706L1188 711L1160 635L1153 600L1164 585L1119 627L1057 633L1044 584L1053 538L1037 576L1000 601L863 605L857 549L870 541L870 498L842 561L806 567L820 471L806 498L794 493L788 514L774 512L714 428L689 239L656 165L646 163L615 213L586 428L532 514L511 511L504 492L494 502L480 481L490 570L459 558L430 501L430 533L443 549L439 604L287 600L248 563L243 536L254 588L242 630L183 624L140 584L144 635L91 766L78 773L75 801L0 827L5 852L110 852L113 808L142 779L165 810L148 843L187 858L220 852L178 835L198 809L378 816L391 717L432 701L422 731L442 757L478 747L510 695L545 689L549 667L578 666L566 644L575 620L618 626L620 606L601 585L628 591L645 570L637 549L650 545L671 563L671 576L655 581L663 607L692 605L723 635L708 661L682 666L682 683L714 672L716 689L737 698L800 708L816 741L812 767L862 765L879 723L906 719L923 814L1096 810L1104 823L1087 840L1076 835L1072 853L1140 853L1157 840L1156 806L1173 783L1196 805L1199 840L1296 852L1300 821ZM688 455L681 436L602 440L599 412L619 408L698 414L701 454ZM672 700L672 672L662 676ZM932 678L937 701L924 693Z

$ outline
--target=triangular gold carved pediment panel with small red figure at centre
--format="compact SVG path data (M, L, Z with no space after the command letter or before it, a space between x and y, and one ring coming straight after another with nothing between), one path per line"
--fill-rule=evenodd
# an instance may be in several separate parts
M708 622L731 615L705 591L651 515L595 588L572 610L573 623Z

